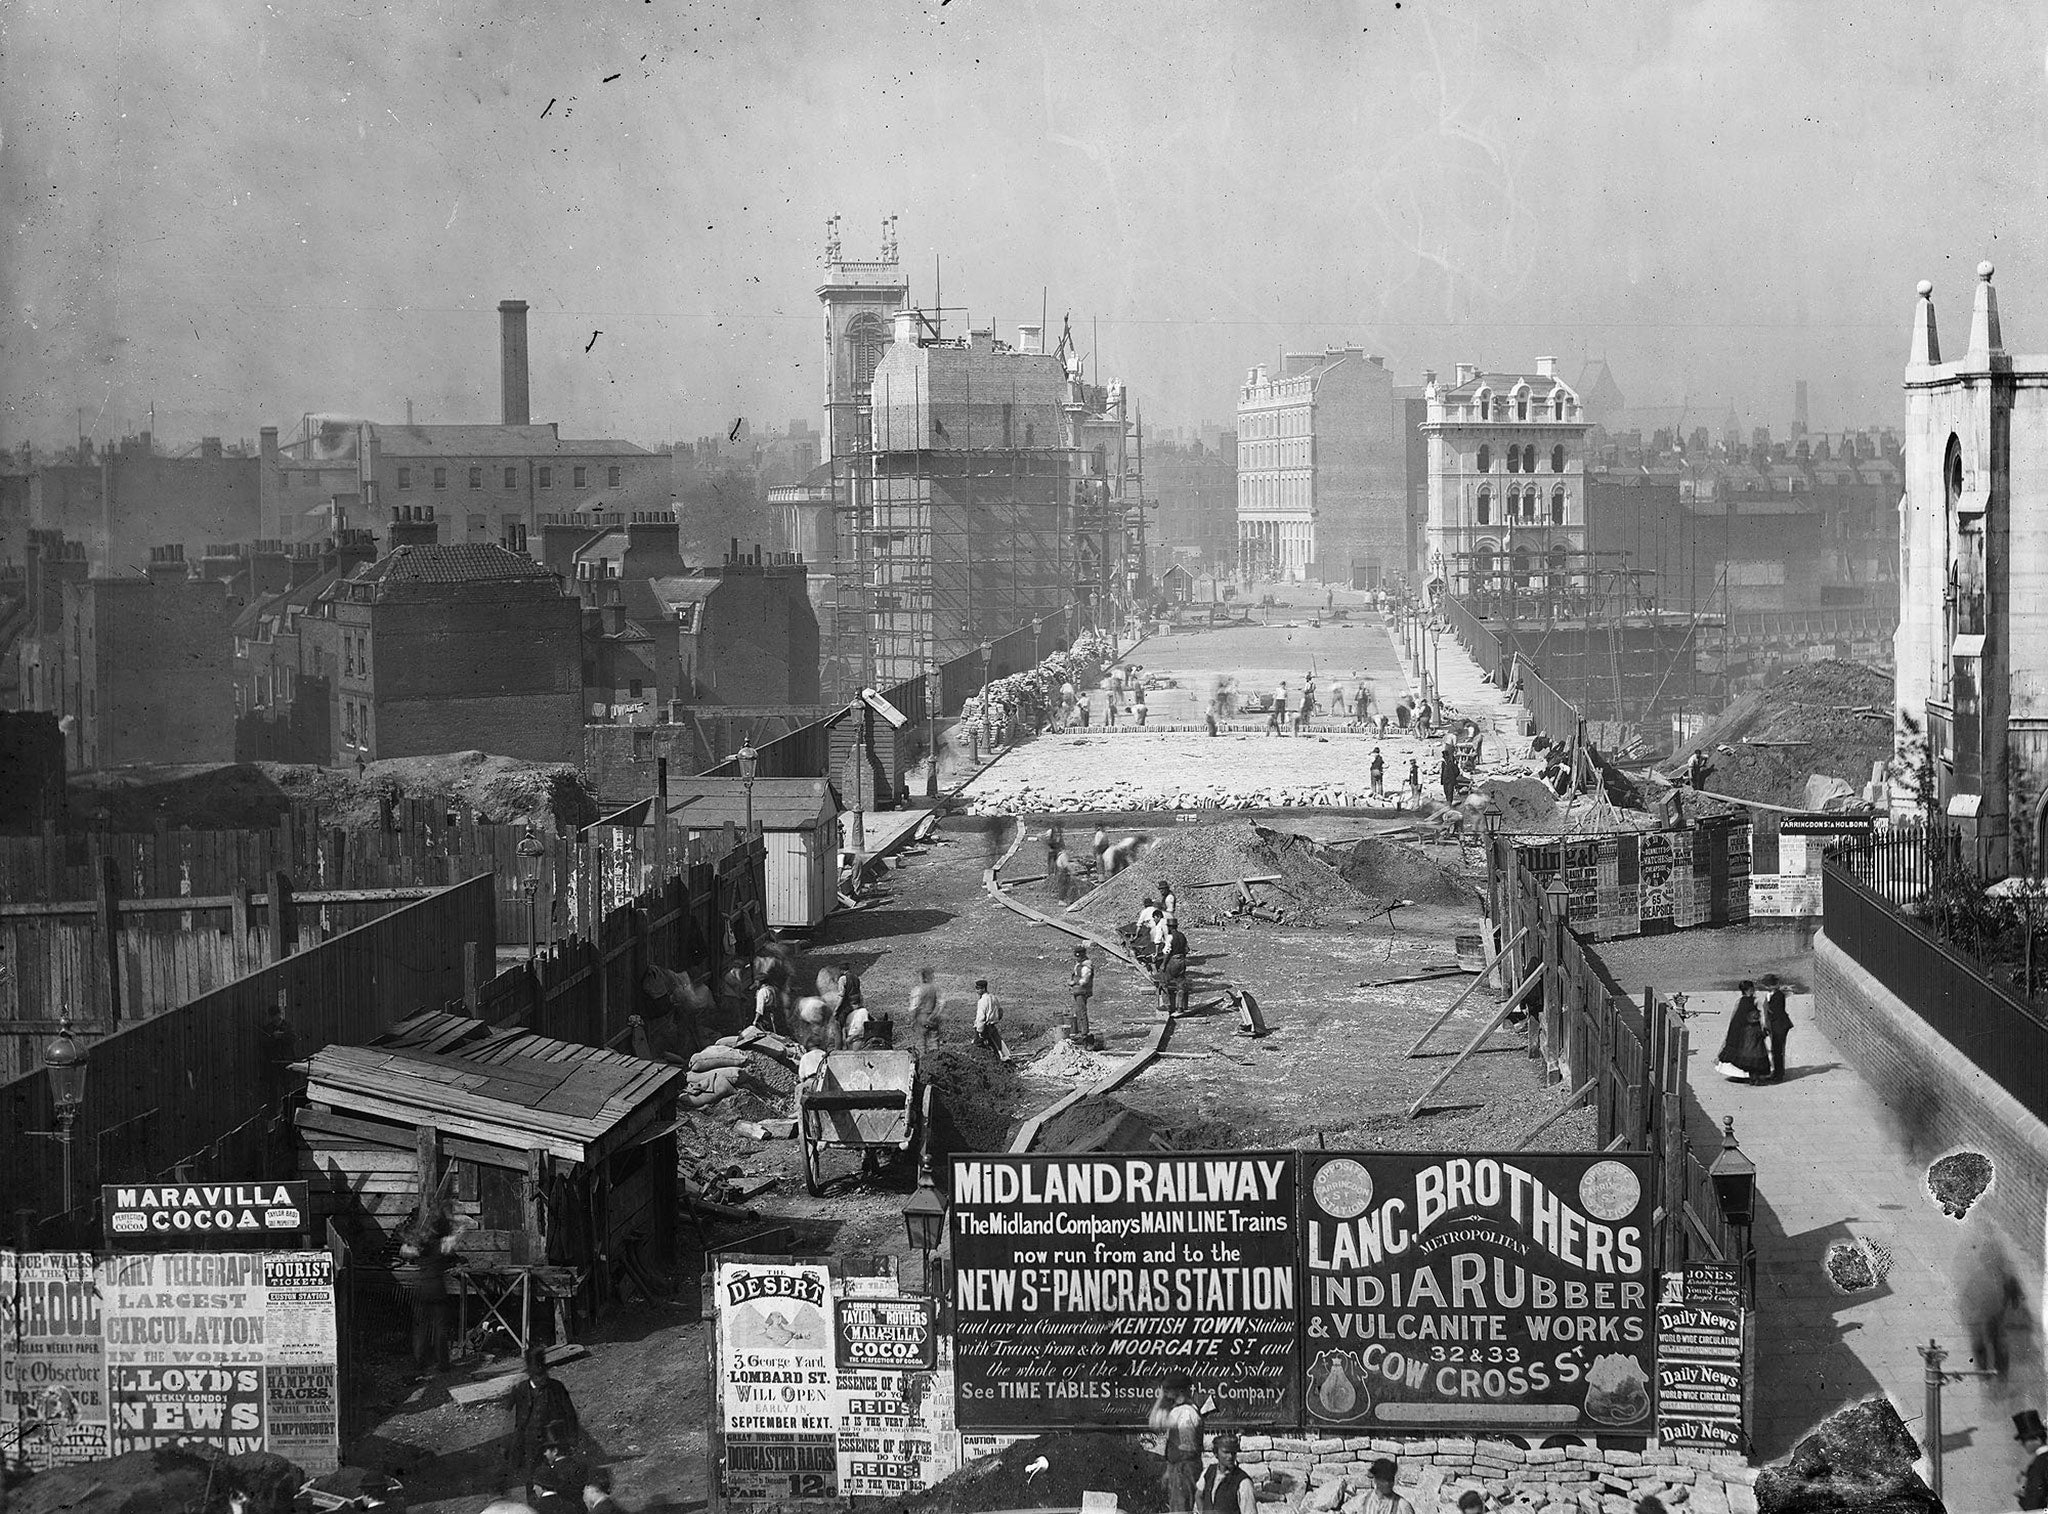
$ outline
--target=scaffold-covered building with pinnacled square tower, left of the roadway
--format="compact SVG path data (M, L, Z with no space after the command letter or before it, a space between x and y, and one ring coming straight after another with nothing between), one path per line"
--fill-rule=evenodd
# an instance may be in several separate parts
M1073 346L915 309L893 223L872 262L825 248L823 477L778 492L829 545L817 596L827 697L887 686L1067 608L1120 625L1145 592L1143 440L1122 385ZM1001 674L1006 670L991 670Z

